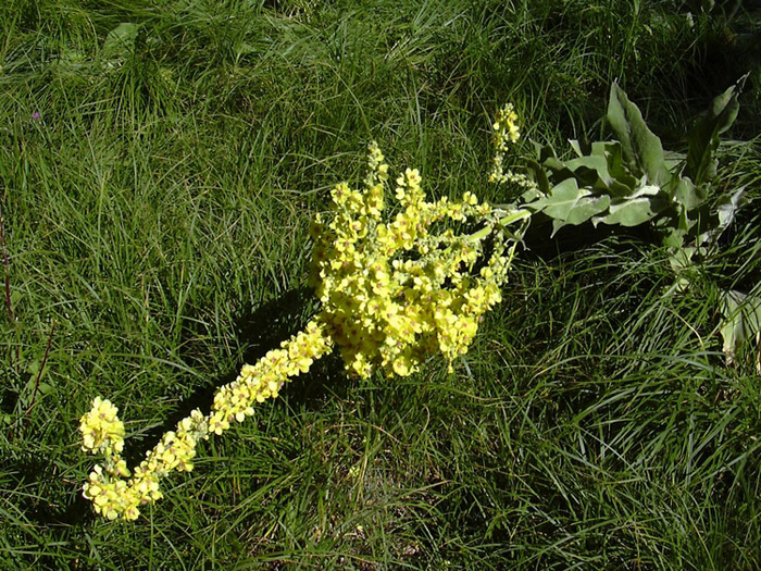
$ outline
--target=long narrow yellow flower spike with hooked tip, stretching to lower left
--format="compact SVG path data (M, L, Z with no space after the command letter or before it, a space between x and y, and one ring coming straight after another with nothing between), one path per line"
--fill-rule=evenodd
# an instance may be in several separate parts
M162 477L173 470L192 470L201 439L208 439L211 433L222 434L230 422L253 414L253 402L275 398L288 377L307 372L330 348L332 339L317 316L279 349L267 352L254 365L245 365L236 381L217 389L209 415L194 410L175 431L163 435L132 474L121 457L124 424L116 415L118 411L110 401L96 397L92 409L82 417L79 430L83 450L102 454L104 462L90 473L84 496L92 501L96 512L110 520L137 519L141 506L163 497L159 486Z

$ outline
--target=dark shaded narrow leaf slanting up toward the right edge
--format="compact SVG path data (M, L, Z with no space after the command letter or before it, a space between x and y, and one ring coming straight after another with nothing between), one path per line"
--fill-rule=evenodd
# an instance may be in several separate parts
M687 163L685 174L696 185L711 181L716 175L715 152L719 148L719 135L728 129L737 119L739 103L737 96L748 75L716 97L710 109L702 113L687 134Z

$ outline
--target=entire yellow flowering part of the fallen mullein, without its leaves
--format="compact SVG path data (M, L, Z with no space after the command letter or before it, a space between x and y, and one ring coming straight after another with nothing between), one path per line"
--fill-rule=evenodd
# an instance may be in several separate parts
M520 137L512 107L494 124L496 158L491 182L510 181L502 158ZM515 247L529 211L494 208L465 193L427 202L416 169L396 179L397 208L387 213L388 164L370 145L362 189L341 183L332 190L332 208L311 227L314 241L311 285L321 310L307 326L246 364L238 377L216 390L211 411L194 410L146 454L132 471L122 458L124 424L116 407L102 397L80 419L82 449L97 455L84 496L109 520L135 520L140 508L162 497L160 481L174 470L189 472L199 442L221 435L254 412L253 405L275 398L291 377L340 348L347 371L367 377L373 371L407 376L424 360L441 353L452 362L467 351L482 315L501 300ZM520 181L519 181L520 183ZM475 223L474 234L456 234L451 223ZM512 228L512 231L510 229Z

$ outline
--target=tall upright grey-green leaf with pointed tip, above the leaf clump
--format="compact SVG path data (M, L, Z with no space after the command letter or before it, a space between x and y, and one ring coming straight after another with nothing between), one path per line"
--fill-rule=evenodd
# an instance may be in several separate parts
M664 186L671 174L663 158L663 146L647 126L637 105L613 83L608 103L608 122L621 141L624 157L649 184Z

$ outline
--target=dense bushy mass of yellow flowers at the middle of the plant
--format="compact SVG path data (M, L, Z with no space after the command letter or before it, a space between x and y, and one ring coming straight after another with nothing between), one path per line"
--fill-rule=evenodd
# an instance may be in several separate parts
M498 211L471 193L426 202L419 171L407 169L396 181L399 209L385 221L383 161L371 144L363 190L337 185L329 220L319 216L312 226L323 319L357 375L379 367L406 376L435 352L451 368L467 351L481 315L501 299L509 258ZM486 227L471 236L432 233L435 223L470 219Z

